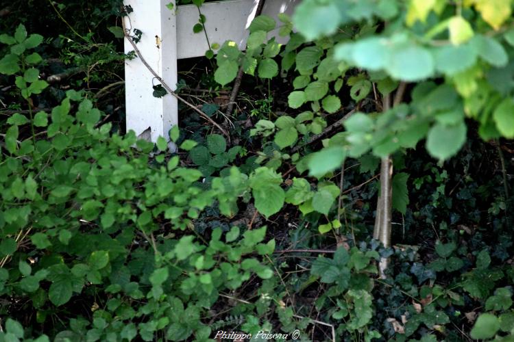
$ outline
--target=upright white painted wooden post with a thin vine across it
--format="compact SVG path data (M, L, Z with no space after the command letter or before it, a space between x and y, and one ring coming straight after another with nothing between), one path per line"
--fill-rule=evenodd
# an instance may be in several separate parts
M166 7L175 0L125 0L134 12L125 16L125 27L143 32L137 43L143 58L171 89L177 84L177 20L175 11ZM132 32L131 32L132 33ZM164 38L165 37L165 38ZM125 38L125 53L133 51ZM178 124L178 103L171 94L152 95L154 79L139 58L125 64L125 105L127 131L140 135L150 127L151 141L159 135L169 140L169 130Z

